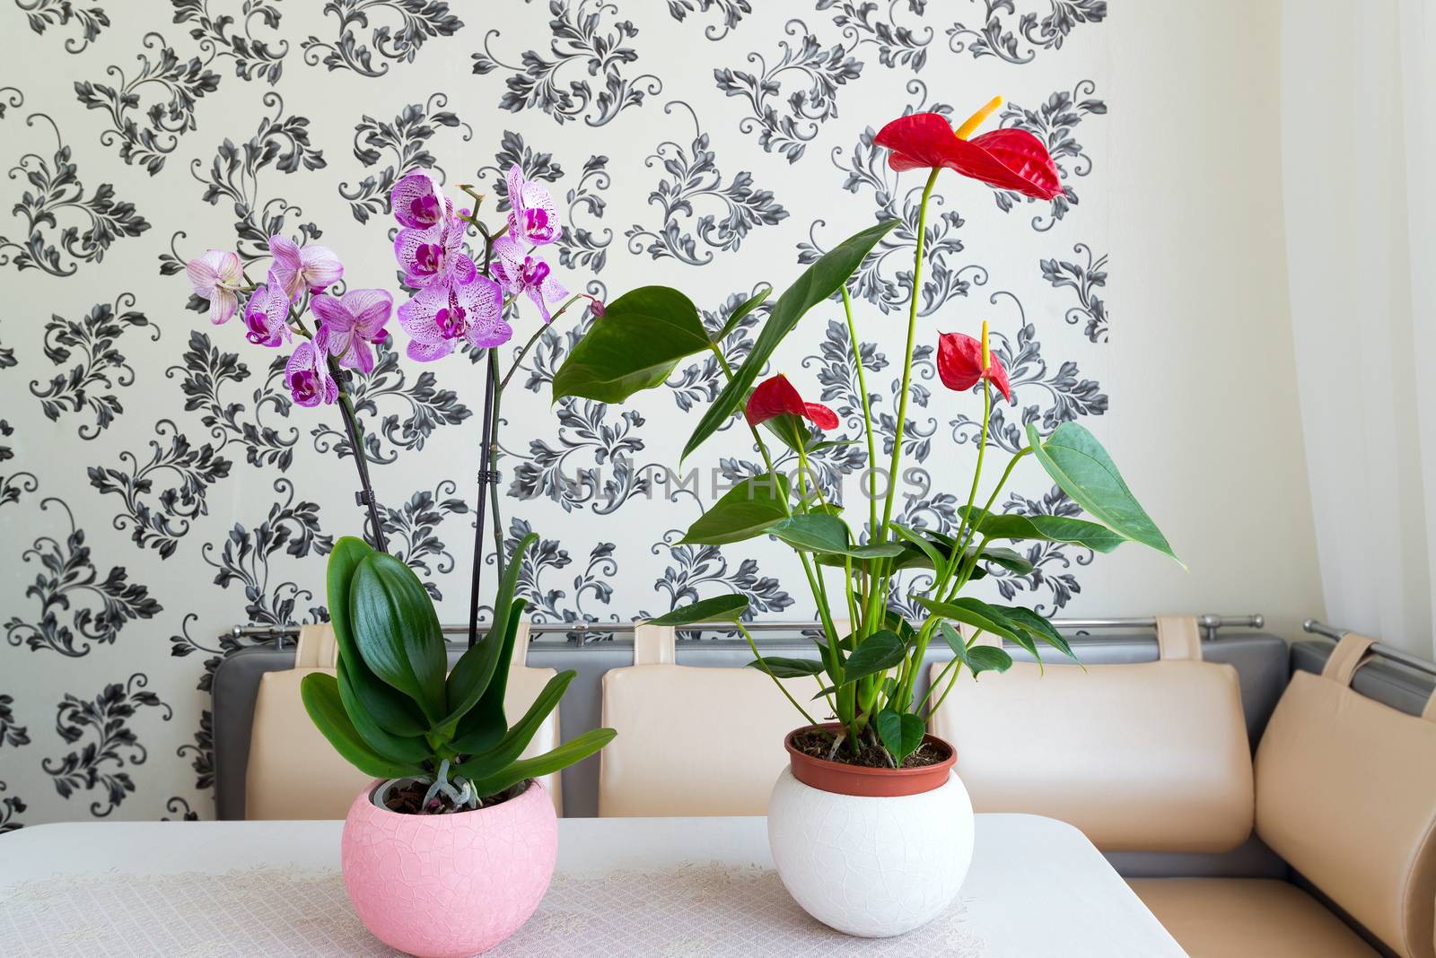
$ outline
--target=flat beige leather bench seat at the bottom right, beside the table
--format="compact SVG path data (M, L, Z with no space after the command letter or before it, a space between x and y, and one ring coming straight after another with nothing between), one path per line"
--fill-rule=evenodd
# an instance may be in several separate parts
M1192 958L1376 958L1377 952L1295 885L1256 878L1129 882Z

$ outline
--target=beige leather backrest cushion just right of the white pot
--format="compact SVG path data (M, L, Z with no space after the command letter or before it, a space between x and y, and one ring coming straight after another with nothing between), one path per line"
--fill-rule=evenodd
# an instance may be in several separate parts
M933 667L933 678L938 668ZM1070 822L1104 852L1225 852L1252 830L1231 665L1037 665L958 680L932 730L976 812Z

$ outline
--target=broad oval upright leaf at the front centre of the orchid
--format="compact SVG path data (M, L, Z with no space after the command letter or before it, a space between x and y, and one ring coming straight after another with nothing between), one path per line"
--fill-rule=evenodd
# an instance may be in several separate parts
M365 665L412 698L429 723L442 718L448 653L419 577L392 555L366 556L349 587L349 615Z

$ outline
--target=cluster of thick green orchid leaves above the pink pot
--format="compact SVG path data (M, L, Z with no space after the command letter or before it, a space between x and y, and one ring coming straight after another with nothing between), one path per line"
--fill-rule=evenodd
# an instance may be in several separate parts
M304 675L304 708L360 772L426 784L419 812L482 807L613 739L612 729L593 729L541 756L518 757L577 674L566 670L550 678L528 711L508 724L504 691L524 611L514 587L534 539L530 533L518 544L498 584L493 627L452 671L434 602L408 565L352 536L339 539L329 556L339 665L333 675Z

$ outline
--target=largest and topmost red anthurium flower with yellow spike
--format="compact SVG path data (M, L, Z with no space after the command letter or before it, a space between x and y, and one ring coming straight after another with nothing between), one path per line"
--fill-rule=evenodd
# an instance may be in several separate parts
M1001 96L992 98L956 131L948 126L941 113L903 116L883 126L873 142L892 151L887 165L899 172L946 166L1024 196L1053 199L1063 195L1061 179L1047 146L1025 129L995 129L968 139L1001 105Z

